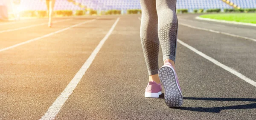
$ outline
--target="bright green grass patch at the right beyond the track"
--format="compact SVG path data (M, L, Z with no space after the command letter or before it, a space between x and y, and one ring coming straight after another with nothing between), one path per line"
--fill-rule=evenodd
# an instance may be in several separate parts
M256 13L204 14L200 17L256 24Z

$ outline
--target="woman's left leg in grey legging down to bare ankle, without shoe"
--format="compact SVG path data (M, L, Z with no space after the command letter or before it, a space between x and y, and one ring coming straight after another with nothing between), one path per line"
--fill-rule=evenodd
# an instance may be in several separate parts
M159 40L157 35L157 10L155 0L140 0L142 17L140 37L148 68L149 81L160 83L158 77Z

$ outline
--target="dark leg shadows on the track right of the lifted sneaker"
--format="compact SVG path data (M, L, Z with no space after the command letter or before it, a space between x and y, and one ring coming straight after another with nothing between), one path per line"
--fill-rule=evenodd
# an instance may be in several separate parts
M256 102L256 98L183 97L183 99L185 99L185 100L207 100L207 101L210 100L210 101L251 101L251 102ZM227 109L256 109L256 103L245 104L245 105L237 105L237 106L211 107L211 108L179 107L179 108L174 108L174 109L219 113L221 110L227 110Z

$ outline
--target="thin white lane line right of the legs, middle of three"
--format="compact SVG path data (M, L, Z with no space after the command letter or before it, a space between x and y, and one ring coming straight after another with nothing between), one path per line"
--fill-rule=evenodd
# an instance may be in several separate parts
M192 28L192 29L210 31L210 32L218 33L218 34L225 34L225 35L229 35L229 36L232 36L232 37L239 37L239 38L243 38L243 39L247 39L247 40L253 40L254 42L256 42L256 39L253 39L253 38L250 38L250 37L244 37L244 36L240 36L240 35L236 35L236 34L230 34L230 33L223 32L223 31L215 31L215 30L212 30L212 29L199 28L199 27L190 26L188 24L184 24L184 23L180 23L180 22L179 22L179 24L182 25L182 26L187 26L187 27Z

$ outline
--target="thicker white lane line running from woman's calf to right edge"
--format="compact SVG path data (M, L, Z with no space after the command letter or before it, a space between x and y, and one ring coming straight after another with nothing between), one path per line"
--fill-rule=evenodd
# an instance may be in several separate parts
M236 75L237 77L241 78L245 82L247 82L247 83L249 83L249 84L251 84L251 85L256 87L256 82L255 81L253 81L250 78L244 76L243 74L239 73L238 71L235 71L235 70L231 69L230 67L225 66L224 64L218 62L217 60L213 59L212 57L207 56L206 54L202 53L201 51L198 51L197 49L193 48L192 46L189 46L188 44L184 43L181 40L177 40L177 42L180 43L181 45L185 46L186 48L194 51L196 54L199 54L200 56L204 57L205 59L211 61L215 65L220 66L221 68L229 71L230 73Z

